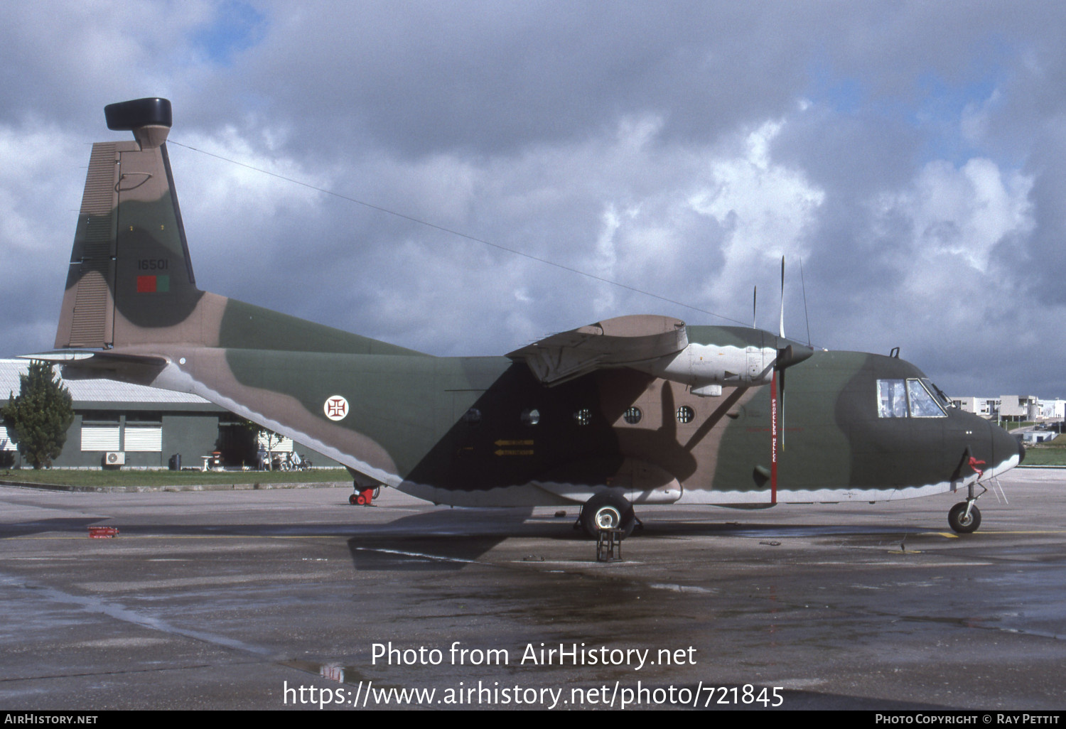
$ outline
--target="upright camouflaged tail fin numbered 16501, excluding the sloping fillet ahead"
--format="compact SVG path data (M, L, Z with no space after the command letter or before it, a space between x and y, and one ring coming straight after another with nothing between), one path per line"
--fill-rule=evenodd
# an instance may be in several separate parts
M136 99L104 109L108 127L135 142L93 145L75 233L56 347L194 341L185 324L196 289L166 135L166 99Z

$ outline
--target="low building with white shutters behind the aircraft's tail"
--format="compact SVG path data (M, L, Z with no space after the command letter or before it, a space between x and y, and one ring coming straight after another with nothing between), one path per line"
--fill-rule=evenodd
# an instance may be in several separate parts
M19 374L29 361L0 359L0 405L9 393L18 394ZM55 368L56 373L60 368ZM63 384L74 398L75 419L67 431L55 468L99 467L104 464L132 468L167 468L172 456L181 466L199 468L205 457L221 452L225 466L257 463L260 443L241 418L194 394L128 385L110 379L69 379ZM339 467L321 453L296 446L316 467ZM288 438L271 443L274 453L291 452ZM0 422L0 467L17 465L15 443Z

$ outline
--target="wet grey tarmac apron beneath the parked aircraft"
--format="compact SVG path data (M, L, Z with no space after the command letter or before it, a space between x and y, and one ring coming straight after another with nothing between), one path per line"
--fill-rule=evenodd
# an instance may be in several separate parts
M962 536L643 507L616 563L576 508L0 487L0 709L1063 709L1066 471L1002 484Z

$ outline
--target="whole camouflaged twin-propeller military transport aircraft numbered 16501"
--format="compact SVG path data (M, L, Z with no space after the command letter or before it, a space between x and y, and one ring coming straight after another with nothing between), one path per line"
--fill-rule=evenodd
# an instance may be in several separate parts
M200 291L166 152L169 101L106 117L134 141L93 145L58 351L29 357L67 377L194 392L335 458L365 495L581 504L595 535L628 533L634 504L965 489L949 521L972 532L975 487L1024 455L898 356L813 351L754 327L620 317L504 357L433 357Z

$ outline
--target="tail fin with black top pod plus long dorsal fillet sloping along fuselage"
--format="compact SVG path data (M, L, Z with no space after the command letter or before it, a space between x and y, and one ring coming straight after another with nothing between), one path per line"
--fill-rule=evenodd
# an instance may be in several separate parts
M104 113L135 141L93 145L55 349L419 354L197 289L166 155L171 102L136 99Z

